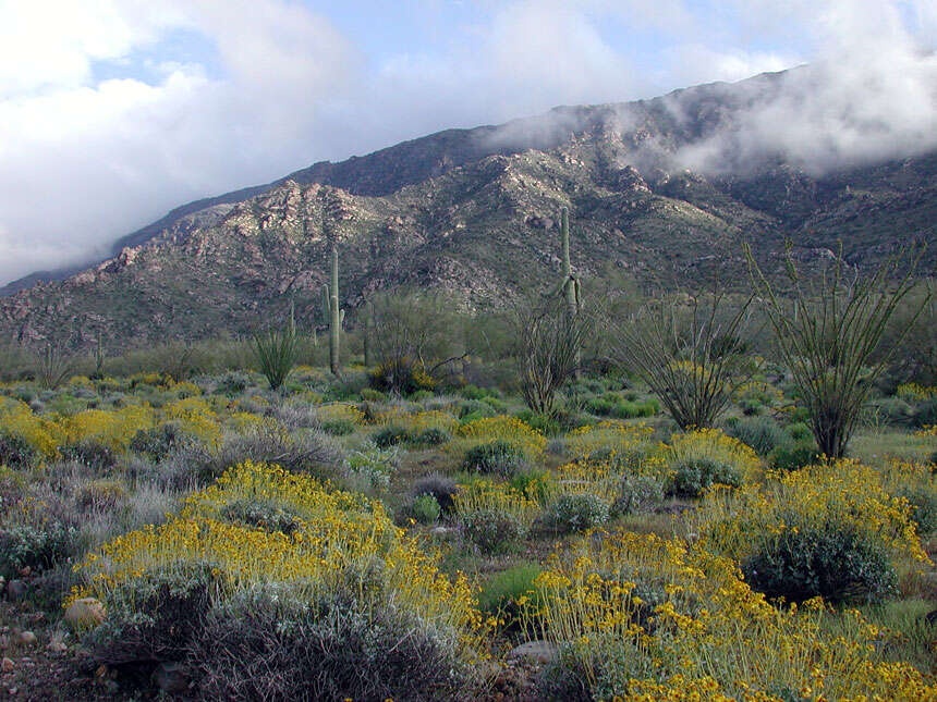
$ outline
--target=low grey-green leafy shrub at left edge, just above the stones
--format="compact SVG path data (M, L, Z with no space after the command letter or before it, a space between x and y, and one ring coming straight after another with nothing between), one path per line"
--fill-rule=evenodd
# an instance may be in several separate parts
M77 531L54 519L0 527L0 576L15 578L20 570L41 571L77 552Z

